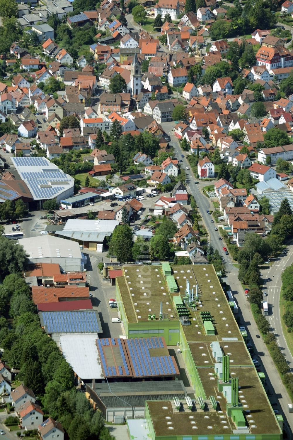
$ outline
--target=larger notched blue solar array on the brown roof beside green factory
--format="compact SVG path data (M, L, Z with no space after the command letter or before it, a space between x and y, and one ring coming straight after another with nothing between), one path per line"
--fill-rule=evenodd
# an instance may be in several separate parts
M150 348L164 348L161 337L127 339L135 376L176 374L171 356L150 356Z

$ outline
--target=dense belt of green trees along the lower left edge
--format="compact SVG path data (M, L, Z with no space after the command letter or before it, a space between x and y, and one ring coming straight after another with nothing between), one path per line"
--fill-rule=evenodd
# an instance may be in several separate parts
M19 370L16 379L33 389L44 413L61 422L70 440L112 440L101 412L94 411L85 394L76 390L72 368L40 327L22 277L28 269L23 247L0 238L0 260L1 359Z

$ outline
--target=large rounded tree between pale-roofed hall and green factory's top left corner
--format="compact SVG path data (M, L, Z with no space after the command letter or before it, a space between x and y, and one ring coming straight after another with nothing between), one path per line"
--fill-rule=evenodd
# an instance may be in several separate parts
M110 241L109 253L116 255L121 263L132 260L132 232L129 226L116 226Z

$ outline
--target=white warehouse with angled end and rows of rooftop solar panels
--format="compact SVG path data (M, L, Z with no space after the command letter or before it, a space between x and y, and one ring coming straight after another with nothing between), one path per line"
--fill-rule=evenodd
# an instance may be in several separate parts
M46 158L22 157L11 158L21 180L29 188L34 202L56 198L61 199L73 195L74 179L65 174L58 166Z

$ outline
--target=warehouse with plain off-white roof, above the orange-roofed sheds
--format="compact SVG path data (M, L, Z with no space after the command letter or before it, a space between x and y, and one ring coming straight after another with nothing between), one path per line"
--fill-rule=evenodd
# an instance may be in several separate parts
M83 271L80 246L63 238L43 235L40 237L21 238L18 243L29 255L29 262L56 263L64 272Z

